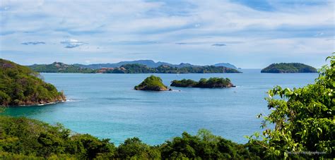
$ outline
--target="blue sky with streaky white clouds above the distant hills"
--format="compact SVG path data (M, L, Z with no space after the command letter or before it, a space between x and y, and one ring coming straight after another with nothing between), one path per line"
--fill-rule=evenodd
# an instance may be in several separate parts
M0 58L33 63L232 63L316 68L335 51L335 1L0 0Z

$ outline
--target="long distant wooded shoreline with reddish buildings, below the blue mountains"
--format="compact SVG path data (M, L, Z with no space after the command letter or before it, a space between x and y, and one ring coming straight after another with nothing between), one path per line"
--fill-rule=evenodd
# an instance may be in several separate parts
M78 64L65 64L54 62L52 64L34 64L28 66L40 73L240 73L239 70L224 66L192 66L186 63L182 66L160 65L152 68L139 63L122 64L112 68L85 68Z

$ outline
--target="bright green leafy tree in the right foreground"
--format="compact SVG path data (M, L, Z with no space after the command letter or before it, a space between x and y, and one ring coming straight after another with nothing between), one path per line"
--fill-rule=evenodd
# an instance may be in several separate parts
M263 144L264 154L271 157L293 156L289 152L324 152L300 154L305 158L335 157L335 56L330 66L319 70L315 84L302 88L269 91L268 107L271 113L264 116L263 140L250 142ZM260 115L261 116L261 115ZM274 128L268 127L275 124ZM259 138L256 133L254 137Z

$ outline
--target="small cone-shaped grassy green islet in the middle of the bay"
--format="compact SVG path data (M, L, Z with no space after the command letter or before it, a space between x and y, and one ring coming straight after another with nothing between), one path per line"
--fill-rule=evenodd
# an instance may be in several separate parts
M168 90L167 86L163 84L162 79L151 75L141 82L141 84L134 87L135 90L151 90L151 91L165 91Z

